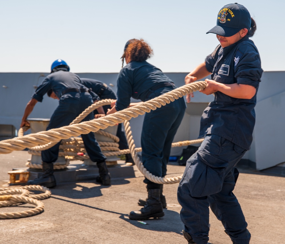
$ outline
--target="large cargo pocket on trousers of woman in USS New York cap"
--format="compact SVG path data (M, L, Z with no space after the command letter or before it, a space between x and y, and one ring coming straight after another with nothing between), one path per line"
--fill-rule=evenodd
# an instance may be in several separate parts
M204 197L221 191L228 162L207 152L198 151L198 175L193 175L190 183L192 197Z

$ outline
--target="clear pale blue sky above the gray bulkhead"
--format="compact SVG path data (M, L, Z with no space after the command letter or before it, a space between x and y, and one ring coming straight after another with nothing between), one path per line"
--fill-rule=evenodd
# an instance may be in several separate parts
M219 44L206 32L228 1L1 0L0 72L50 72L63 59L74 73L121 69L127 40L143 38L163 72L190 72ZM252 40L264 71L284 71L284 0L241 1L257 23ZM283 44L282 44L283 43Z

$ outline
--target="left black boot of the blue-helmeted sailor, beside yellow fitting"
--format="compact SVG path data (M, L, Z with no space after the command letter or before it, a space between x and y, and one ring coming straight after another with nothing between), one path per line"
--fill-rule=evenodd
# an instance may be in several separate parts
M53 163L42 162L42 170L44 173L34 179L27 182L28 185L42 185L48 188L52 188L56 186L56 181L53 175Z

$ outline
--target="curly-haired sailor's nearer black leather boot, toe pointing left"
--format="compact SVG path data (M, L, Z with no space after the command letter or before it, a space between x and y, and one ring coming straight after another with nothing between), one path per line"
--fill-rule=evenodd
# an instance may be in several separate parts
M164 216L160 201L160 189L147 189L147 191L148 198L145 206L140 211L131 211L129 219L144 220Z

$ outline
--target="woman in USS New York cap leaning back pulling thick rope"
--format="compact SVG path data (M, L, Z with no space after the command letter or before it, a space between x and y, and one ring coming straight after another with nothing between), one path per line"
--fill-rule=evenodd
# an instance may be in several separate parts
M234 244L248 244L251 238L233 189L239 175L235 166L253 139L263 72L258 50L249 39L255 30L256 23L243 5L223 6L217 24L207 32L216 34L220 44L185 77L189 84L211 75L200 92L214 94L201 117L199 138L205 139L188 159L177 191L188 244L208 243L209 207ZM187 95L187 102L191 97Z

